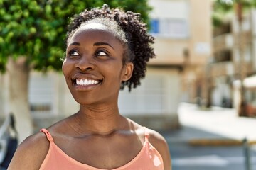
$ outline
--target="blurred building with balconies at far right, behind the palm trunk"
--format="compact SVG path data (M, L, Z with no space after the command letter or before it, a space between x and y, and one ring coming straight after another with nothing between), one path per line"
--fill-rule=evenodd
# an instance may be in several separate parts
M256 115L256 10L245 13L240 23L234 13L213 33L212 104L239 112L244 101L246 114Z

